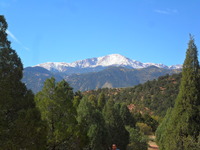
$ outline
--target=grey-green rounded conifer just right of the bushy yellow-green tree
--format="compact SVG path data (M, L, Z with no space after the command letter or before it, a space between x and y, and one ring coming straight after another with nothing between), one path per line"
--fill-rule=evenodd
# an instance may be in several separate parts
M81 100L77 112L78 122L87 134L88 144L85 149L105 150L108 148L108 131L102 113L86 97Z

